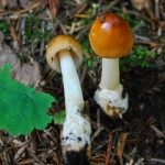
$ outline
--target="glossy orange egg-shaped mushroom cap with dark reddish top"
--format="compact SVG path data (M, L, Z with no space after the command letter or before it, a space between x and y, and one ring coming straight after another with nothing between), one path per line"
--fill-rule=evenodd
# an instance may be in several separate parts
M133 35L127 21L113 13L98 16L91 25L89 42L94 52L105 58L125 56L133 46Z

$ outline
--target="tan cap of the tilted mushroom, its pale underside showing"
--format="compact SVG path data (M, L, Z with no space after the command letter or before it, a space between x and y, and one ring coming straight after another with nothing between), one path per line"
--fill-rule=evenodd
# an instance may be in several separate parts
M46 61L50 67L61 73L59 52L68 51L73 56L76 67L82 62L82 48L78 41L69 35L57 35L53 37L46 48Z

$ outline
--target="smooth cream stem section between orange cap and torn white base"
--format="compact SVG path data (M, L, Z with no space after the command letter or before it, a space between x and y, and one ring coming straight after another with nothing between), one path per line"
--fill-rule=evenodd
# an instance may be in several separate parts
M120 85L119 58L102 58L100 87L116 90Z

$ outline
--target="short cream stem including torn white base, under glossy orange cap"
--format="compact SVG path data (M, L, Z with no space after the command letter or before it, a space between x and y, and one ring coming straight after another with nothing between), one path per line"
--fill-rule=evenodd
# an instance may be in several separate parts
M108 116L122 117L128 110L128 95L122 96L120 84L119 58L102 58L100 88L95 92L95 100Z

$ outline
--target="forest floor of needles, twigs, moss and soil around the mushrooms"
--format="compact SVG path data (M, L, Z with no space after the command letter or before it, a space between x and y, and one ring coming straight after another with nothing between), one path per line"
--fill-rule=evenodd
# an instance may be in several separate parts
M129 94L129 110L122 119L110 119L94 101L101 59L91 51L88 33L94 19L103 12L123 16L134 34L132 52L120 62L121 82ZM75 36L85 51L78 73L92 127L91 165L165 164L165 2L1 0L0 44L21 63L40 65L38 88L57 98L51 113L65 109L62 75L45 62L45 47L57 34ZM28 136L1 131L0 164L63 164L61 130L62 125L51 123Z

